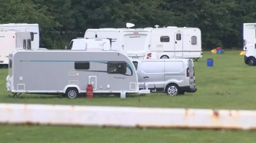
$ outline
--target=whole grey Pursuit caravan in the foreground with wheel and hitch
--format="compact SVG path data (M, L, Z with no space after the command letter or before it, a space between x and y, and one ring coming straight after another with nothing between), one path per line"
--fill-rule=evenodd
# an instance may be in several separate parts
M119 51L24 49L9 55L6 89L14 96L61 94L76 98L86 93L88 84L95 94L150 93L146 88L139 90L132 61Z

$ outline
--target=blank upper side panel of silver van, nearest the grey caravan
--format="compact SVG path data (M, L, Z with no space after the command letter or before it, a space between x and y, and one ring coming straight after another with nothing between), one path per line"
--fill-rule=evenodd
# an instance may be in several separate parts
M164 73L164 61L143 61L140 69L145 73Z

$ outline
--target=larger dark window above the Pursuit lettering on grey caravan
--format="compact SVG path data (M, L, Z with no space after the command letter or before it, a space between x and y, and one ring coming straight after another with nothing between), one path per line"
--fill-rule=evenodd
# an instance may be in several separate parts
M126 73L126 62L108 62L108 73L109 74L125 74Z

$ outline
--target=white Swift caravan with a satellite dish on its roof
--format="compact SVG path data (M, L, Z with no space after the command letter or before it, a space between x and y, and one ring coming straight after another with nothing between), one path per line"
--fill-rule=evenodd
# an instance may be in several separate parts
M131 59L146 59L151 53L150 29L130 29L134 24L127 23L128 28L87 29L86 38L111 38L112 50L120 51Z

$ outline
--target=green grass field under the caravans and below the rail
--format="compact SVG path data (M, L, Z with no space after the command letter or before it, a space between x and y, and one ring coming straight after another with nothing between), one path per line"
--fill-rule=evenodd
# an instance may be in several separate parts
M0 102L78 104L106 106L140 106L170 108L256 109L256 67L244 64L240 51L222 55L204 52L194 62L198 91L183 96L152 94L144 97L78 98L21 95L5 98L6 69L0 69ZM206 67L206 59L214 59L214 67ZM31 71L36 72L36 71ZM1 116L1 115L0 115ZM180 129L113 129L98 127L50 127L0 125L0 143L256 143L256 132Z

